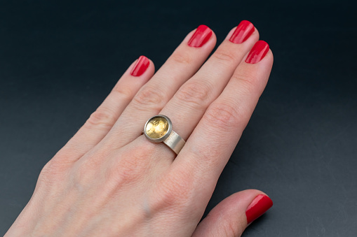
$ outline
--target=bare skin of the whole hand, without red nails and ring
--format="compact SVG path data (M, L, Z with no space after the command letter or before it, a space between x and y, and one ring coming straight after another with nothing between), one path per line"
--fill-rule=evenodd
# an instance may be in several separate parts
M271 50L245 63L258 31L241 44L229 41L233 31L205 64L216 37L191 48L194 31L155 74L150 61L131 76L134 62L43 167L6 236L241 236L258 190L229 196L198 224L273 64ZM187 141L177 156L141 134L158 114Z

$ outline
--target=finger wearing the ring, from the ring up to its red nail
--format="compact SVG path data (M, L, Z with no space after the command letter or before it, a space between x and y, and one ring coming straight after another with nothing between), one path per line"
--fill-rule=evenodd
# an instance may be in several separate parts
M258 39L259 33L253 24L242 21L161 110L160 114L170 117L173 129L184 140L187 140L210 103L222 93L234 70Z

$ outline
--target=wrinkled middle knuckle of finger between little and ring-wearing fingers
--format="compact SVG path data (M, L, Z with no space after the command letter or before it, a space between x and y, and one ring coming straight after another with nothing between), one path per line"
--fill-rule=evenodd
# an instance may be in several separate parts
M158 88L159 87L147 86L140 90L133 99L137 108L147 106L151 106L150 108L152 108L153 106L157 106L158 109L161 109L166 101L166 96L164 92Z

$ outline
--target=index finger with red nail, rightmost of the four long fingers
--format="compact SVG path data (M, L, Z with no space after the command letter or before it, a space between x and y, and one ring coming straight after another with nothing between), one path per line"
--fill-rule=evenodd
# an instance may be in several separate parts
M264 41L255 43L175 159L173 168L182 166L194 177L206 178L208 186L197 187L197 192L202 189L208 196L213 192L267 85L272 64L269 45Z

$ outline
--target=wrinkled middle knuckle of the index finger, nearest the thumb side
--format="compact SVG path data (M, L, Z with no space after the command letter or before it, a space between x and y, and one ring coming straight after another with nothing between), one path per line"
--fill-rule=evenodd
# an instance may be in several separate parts
M238 115L237 108L229 103L219 102L213 103L203 117L213 129L231 131L238 124Z

